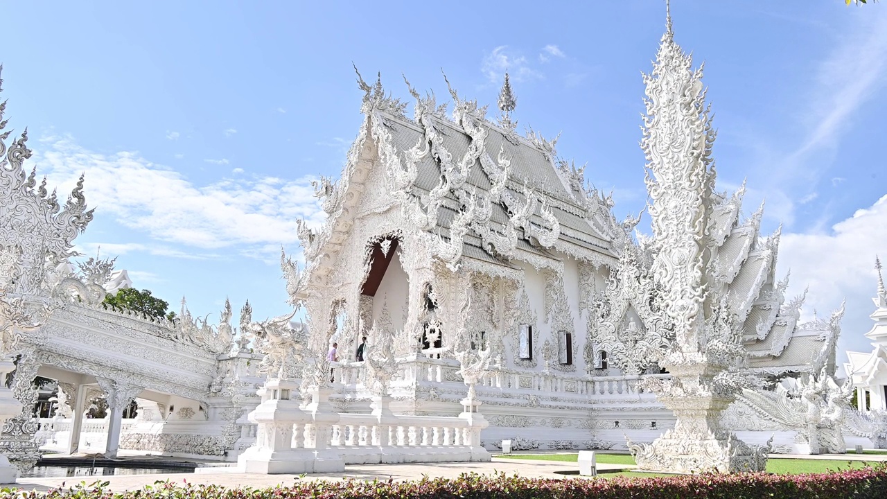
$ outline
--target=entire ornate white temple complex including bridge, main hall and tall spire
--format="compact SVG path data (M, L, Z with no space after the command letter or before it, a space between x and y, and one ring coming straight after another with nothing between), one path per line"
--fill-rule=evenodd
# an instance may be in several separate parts
M644 469L687 472L887 444L887 421L851 410L834 379L843 306L800 323L763 204L743 217L744 185L715 189L702 76L669 16L644 76L647 236L556 139L516 132L507 75L491 120L449 81L449 115L405 82L407 116L358 74L364 121L341 178L316 185L326 220L299 224L302 269L281 256L294 311L254 321L247 303L238 325L230 304L218 325L184 304L174 322L102 305L131 281L113 260L69 262L91 219L82 182L59 212L16 140L0 168L0 360L14 360L0 362L14 370L0 455L27 469L42 452L127 448L298 473L489 460L511 440L630 448ZM875 352L847 369L863 410L885 400L883 282L878 300ZM48 421L31 414L38 375L59 384ZM100 422L86 417L98 399Z

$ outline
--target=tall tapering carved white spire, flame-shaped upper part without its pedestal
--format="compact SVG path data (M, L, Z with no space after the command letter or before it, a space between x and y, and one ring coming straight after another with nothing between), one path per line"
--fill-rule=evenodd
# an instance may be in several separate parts
M715 170L711 159L714 131L705 106L703 70L675 44L671 12L656 53L647 87L641 147L647 157L647 187L652 200L656 255L655 279L667 289L666 308L684 346L695 349L707 276L705 231L710 217ZM717 300L706 300L706 304ZM686 336L685 336L686 335Z

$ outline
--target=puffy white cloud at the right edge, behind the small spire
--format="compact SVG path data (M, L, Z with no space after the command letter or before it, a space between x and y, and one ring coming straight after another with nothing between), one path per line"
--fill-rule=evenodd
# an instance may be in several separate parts
M789 292L810 286L803 309L804 320L813 310L828 316L847 298L842 322L842 347L867 350L862 335L871 329L868 314L875 296L875 254L887 254L887 195L874 205L858 210L825 234L783 234L778 265L784 274L791 268ZM846 359L838 355L838 362Z

